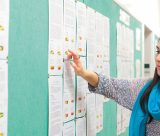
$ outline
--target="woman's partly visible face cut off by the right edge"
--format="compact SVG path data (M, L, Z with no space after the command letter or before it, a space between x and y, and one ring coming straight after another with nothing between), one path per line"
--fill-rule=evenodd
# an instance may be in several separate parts
M157 68L157 74L160 76L160 42L156 46L156 68Z

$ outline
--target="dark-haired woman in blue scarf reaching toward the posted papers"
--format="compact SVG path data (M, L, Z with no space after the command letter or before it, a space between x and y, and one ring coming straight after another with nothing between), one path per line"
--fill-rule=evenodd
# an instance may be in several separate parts
M79 56L69 50L75 73L87 80L89 90L115 100L132 110L129 136L160 136L160 40L152 80L107 78L83 68Z

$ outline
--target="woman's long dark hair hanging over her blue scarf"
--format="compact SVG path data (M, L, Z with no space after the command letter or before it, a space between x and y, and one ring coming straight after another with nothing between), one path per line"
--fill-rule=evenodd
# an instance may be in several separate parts
M151 81L150 85L148 86L148 88L146 88L144 94L142 95L141 99L140 99L140 105L141 105L141 109L144 113L147 113L148 111L146 111L145 109L145 103L148 103L148 98L149 95L152 91L153 86L157 83L157 81L160 79L158 73L157 73L157 69L155 68L155 72L154 72L154 77L153 80ZM153 120L153 117L150 115L149 113L149 121L148 123L150 123Z

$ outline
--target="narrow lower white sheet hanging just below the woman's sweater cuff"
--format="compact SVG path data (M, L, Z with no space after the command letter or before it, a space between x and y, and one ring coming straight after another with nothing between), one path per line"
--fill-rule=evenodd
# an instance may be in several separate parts
M96 136L95 94L87 94L87 136Z

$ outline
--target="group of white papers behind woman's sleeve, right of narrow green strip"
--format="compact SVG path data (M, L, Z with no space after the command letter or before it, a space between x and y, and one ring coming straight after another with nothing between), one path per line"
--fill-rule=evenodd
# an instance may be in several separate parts
M133 30L121 23L117 23L117 69L118 78L134 77L134 34ZM126 130L129 118L130 111L118 105L117 135Z

